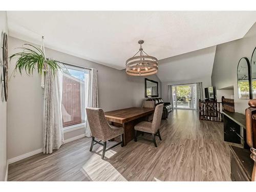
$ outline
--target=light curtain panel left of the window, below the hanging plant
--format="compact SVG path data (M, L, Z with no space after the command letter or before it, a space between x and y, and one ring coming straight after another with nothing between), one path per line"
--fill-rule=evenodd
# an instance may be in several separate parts
M63 143L61 99L62 72L49 70L45 75L44 100L44 153L51 154Z

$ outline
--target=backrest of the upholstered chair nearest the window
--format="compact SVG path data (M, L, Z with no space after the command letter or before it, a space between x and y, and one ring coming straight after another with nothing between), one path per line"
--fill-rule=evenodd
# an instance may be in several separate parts
M87 119L93 137L102 141L109 137L110 125L101 108L86 108Z

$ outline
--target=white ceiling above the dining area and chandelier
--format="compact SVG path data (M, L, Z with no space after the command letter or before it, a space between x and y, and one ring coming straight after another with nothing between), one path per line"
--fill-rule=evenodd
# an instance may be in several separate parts
M255 23L256 11L7 11L7 15L10 36L40 44L44 35L48 48L121 70L138 51L139 39L145 41L147 54L164 59L242 38Z

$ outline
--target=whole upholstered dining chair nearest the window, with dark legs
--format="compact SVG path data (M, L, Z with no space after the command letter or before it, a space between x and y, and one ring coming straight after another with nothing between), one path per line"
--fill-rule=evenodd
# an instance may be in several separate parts
M92 133L92 143L90 147L90 152L93 149L93 145L98 143L103 146L101 159L104 159L106 151L110 150L111 148L119 144L123 146L123 127L116 127L110 125L108 121L106 121L103 110L100 108L86 108L86 113L90 130ZM106 149L106 141L113 139L117 136L121 136L121 142ZM95 138L99 139L100 141L96 141ZM101 141L103 141L103 143Z

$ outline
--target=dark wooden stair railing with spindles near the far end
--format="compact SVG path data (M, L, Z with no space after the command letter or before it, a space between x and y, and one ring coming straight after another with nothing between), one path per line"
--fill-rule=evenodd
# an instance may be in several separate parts
M199 100L199 119L206 121L223 122L221 103Z

